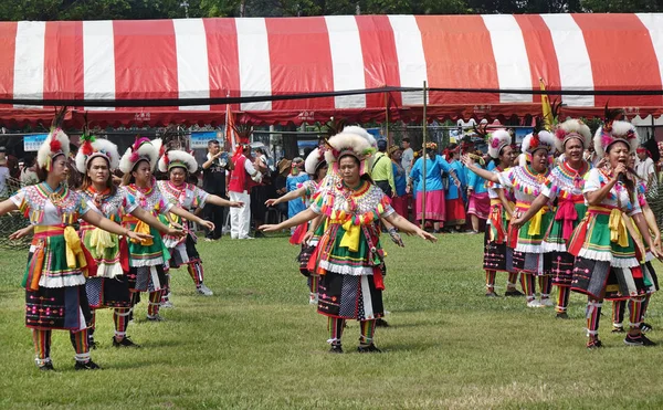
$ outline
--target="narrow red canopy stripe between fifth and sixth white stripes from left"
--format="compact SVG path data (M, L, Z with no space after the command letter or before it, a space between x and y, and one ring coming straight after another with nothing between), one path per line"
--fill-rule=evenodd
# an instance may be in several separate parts
M357 27L364 55L364 75L367 88L400 87L400 71L393 29L387 15L357 15ZM402 104L401 93L391 95L391 105ZM366 107L385 107L385 95L369 94Z

